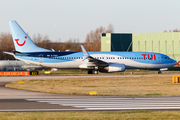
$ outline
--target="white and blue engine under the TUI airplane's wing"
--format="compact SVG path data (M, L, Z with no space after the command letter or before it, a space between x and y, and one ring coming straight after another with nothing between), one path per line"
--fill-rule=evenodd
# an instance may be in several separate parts
M125 71L125 64L109 63L108 67L99 70L100 72L123 72Z

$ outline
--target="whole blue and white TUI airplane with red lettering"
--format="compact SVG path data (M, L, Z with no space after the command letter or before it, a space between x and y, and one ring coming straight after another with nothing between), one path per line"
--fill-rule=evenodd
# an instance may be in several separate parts
M126 69L167 70L177 62L154 52L82 52L51 51L38 47L15 20L9 21L15 51L4 52L16 59L51 68L87 69L88 74L123 72Z

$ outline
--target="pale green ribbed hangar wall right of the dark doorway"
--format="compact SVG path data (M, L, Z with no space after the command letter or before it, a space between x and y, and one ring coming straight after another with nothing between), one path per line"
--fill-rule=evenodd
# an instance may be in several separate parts
M180 61L180 32L133 33L132 51L157 52Z

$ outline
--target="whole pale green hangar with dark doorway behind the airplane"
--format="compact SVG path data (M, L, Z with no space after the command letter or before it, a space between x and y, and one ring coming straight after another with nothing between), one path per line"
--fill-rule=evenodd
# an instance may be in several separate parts
M180 32L102 33L101 50L157 52L180 61Z

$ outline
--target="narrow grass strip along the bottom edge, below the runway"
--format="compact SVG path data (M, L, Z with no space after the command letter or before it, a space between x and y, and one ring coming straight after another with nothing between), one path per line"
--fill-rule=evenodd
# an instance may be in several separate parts
M180 111L0 112L1 120L179 120Z

